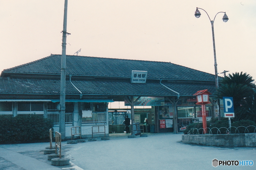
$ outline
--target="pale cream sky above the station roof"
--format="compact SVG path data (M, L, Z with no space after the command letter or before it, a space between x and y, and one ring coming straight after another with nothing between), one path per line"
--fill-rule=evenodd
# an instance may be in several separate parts
M164 61L256 80L255 0L68 1L67 55ZM61 54L64 0L0 0L0 72ZM86 66L85 66L86 67ZM228 74L227 73L227 74ZM219 74L223 76L223 74Z

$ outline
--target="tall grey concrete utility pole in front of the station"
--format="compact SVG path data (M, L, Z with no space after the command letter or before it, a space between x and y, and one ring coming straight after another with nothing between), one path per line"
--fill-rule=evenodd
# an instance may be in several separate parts
M64 19L62 31L62 54L61 54L61 72L60 72L60 117L59 117L59 131L61 139L65 140L65 110L66 110L66 38L67 38L67 9L68 0L64 4Z

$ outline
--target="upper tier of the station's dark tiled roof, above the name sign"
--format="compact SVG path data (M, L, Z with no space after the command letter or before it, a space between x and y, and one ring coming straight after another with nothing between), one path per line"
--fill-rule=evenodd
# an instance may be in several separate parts
M67 55L66 74L82 76L131 77L132 70L147 71L148 79L180 79L215 81L213 74L170 62L141 61ZM61 55L5 69L4 73L60 74Z

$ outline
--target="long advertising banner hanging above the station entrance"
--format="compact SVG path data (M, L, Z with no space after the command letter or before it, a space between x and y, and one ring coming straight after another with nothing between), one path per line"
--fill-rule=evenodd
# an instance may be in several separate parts
M134 97L133 100L136 99L137 97ZM127 100L124 100L124 104L130 106ZM134 106L164 106L164 97L140 97Z

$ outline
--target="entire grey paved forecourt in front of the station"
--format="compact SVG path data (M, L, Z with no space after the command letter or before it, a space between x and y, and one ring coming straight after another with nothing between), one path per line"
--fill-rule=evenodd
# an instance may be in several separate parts
M43 154L49 143L0 145L1 170L126 170L126 169L256 169L256 148L208 147L183 144L182 134L149 134L76 144L62 142L70 165L52 166ZM212 166L212 160L253 161L252 166Z

